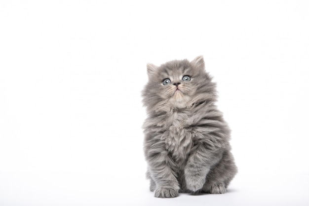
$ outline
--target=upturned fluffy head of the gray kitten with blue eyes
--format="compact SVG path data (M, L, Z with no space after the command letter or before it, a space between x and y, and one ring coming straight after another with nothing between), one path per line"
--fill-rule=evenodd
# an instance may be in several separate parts
M204 59L174 60L157 67L147 64L149 81L142 91L148 111L169 112L197 101L215 99L215 84L205 71Z

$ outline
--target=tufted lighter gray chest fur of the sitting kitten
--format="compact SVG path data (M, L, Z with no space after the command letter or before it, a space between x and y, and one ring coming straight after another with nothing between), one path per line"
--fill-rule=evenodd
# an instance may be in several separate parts
M174 113L167 120L165 145L176 160L185 160L191 150L192 133L188 127L188 118L188 115Z

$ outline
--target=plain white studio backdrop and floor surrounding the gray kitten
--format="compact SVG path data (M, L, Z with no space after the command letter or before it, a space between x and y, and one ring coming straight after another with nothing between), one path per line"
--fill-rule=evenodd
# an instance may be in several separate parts
M145 180L146 63L203 55L239 173ZM0 206L308 205L309 2L1 0Z

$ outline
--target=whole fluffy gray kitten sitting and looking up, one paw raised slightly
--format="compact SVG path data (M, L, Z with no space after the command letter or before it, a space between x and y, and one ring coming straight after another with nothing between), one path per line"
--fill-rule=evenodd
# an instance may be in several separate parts
M142 91L148 118L143 128L150 190L159 198L179 192L222 194L237 173L230 129L217 109L216 84L204 59L147 65Z

